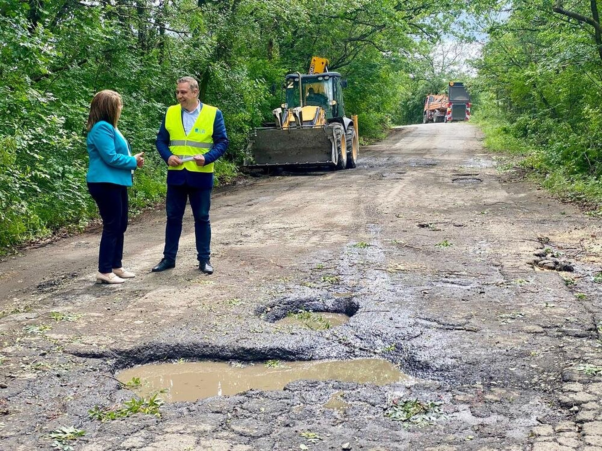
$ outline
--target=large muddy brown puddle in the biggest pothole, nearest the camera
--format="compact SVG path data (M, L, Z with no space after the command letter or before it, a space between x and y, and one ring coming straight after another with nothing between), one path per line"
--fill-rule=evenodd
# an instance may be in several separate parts
M268 361L243 368L224 362L167 363L138 366L117 375L126 384L140 378L140 387L132 388L139 396L148 397L158 390L167 402L194 401L210 396L258 390L282 390L289 382L302 379L358 382L384 385L399 382L407 376L393 364L380 359Z

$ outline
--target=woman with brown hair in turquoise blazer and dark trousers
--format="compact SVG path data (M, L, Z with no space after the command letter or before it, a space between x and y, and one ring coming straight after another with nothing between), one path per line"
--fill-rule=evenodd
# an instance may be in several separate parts
M88 116L90 164L85 180L102 218L96 274L99 283L123 283L135 277L123 269L121 260L123 233L128 227L128 186L132 186L135 168L144 164L144 152L132 156L128 141L117 129L121 110L121 96L104 90L92 99Z

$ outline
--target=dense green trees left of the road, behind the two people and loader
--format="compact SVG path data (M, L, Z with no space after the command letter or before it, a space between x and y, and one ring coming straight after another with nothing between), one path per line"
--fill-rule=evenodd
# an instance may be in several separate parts
M119 128L135 153L146 152L129 190L137 212L166 192L154 141L180 76L195 76L202 102L223 111L231 144L216 164L222 185L238 176L249 132L282 102L284 75L305 72L312 55L329 58L330 70L349 82L345 108L358 114L362 142L407 121L410 99L420 106L427 89L447 81L418 82L429 64L414 55L427 55L462 7L140 0L42 8L0 0L0 250L82 229L98 215L85 183L85 121L95 92L122 94Z

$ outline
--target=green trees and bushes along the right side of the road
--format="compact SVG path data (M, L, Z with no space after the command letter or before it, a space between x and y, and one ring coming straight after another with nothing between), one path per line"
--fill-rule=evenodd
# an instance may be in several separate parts
M551 4L512 6L506 20L491 22L476 61L485 145L514 154L554 194L599 207L602 69L591 34L552 14Z

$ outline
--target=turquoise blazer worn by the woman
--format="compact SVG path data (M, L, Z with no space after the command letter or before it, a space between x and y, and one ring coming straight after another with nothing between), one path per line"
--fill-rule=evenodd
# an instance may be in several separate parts
M115 183L132 186L132 170L136 159L129 152L128 141L110 123L99 121L88 132L88 173L89 183Z

